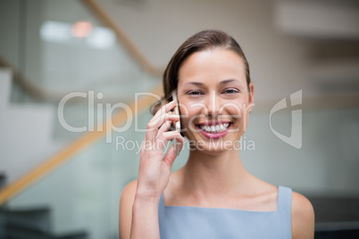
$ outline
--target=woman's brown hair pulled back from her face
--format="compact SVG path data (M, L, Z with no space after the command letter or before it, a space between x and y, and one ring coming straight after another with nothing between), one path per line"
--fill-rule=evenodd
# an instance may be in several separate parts
M167 102L172 100L171 94L177 89L179 84L179 68L188 56L196 52L217 47L233 51L243 59L246 70L246 85L249 91L249 83L251 82L249 64L246 61L246 55L243 53L242 48L233 37L230 37L230 35L224 31L207 29L189 37L187 41L179 46L177 52L172 56L171 61L163 73L163 101ZM158 110L161 103L163 102L158 102L153 105L151 109L153 114Z

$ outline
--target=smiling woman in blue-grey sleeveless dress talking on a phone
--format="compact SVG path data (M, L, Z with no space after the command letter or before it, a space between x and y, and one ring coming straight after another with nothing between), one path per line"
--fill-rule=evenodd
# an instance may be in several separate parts
M120 235L126 238L313 238L312 204L288 187L270 185L243 167L238 142L254 103L254 85L238 43L220 30L190 37L163 75L164 98L177 93L147 125L138 180L123 190ZM179 106L180 119L171 113ZM167 141L180 120L190 152L171 173Z

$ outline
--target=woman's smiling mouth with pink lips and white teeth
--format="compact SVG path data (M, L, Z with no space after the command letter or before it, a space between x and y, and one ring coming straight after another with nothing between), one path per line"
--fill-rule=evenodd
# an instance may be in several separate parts
M196 128L200 129L202 135L210 138L219 138L227 135L227 129L230 128L232 122L205 122L197 124Z

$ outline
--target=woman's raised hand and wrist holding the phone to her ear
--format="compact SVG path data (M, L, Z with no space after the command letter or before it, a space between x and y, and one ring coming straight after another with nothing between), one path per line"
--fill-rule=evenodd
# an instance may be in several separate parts
M179 115L172 114L176 102L163 105L147 124L145 142L141 147L136 197L158 202L163 190L168 185L171 167L177 157L173 145L163 157L163 150L169 140L179 141L179 150L185 139L179 132L169 131L171 124L179 120Z

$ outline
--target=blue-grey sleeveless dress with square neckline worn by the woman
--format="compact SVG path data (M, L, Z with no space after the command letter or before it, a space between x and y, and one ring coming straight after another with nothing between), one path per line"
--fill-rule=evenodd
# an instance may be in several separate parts
M292 238L292 190L278 188L278 207L272 211L164 206L159 202L161 239L285 239Z

